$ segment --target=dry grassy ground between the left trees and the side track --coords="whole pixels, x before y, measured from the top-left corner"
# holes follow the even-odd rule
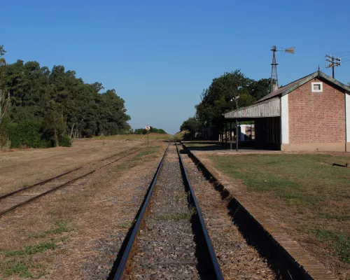
[[[145,144],[146,142],[141,139],[133,141],[76,139],[70,148],[17,149],[12,152],[0,152],[0,195],[89,162],[101,160],[113,153]]]

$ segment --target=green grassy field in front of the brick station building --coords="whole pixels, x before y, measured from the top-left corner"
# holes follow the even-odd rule
[[[214,167],[244,183],[246,195],[274,214],[321,258],[350,269],[349,156],[208,155]],[[324,260],[324,262],[328,262]],[[350,277],[350,275],[349,275]],[[347,279],[347,278],[345,278]]]

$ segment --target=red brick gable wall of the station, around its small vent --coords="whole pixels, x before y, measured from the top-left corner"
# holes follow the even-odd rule
[[[311,92],[322,82],[323,92]],[[344,92],[313,79],[288,94],[289,143],[345,142]]]

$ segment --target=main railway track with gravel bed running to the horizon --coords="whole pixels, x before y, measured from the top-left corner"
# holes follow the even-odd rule
[[[176,143],[163,155],[114,279],[223,279]]]

